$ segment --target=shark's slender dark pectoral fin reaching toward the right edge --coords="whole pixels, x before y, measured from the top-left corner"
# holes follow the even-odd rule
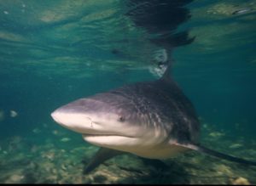
[[[256,166],[256,161],[247,161],[238,157],[234,157],[231,155],[225,155],[224,153],[212,150],[212,149],[208,149],[206,147],[203,147],[201,145],[195,145],[195,144],[178,144],[179,146],[183,146],[185,148],[188,149],[194,149],[196,151],[199,151],[201,153],[207,154],[207,155],[212,155],[227,161],[233,161],[236,163],[241,163],[244,165],[248,165],[248,166]]]

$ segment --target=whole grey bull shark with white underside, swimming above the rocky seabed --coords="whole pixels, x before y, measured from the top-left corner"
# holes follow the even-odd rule
[[[173,80],[170,64],[158,80],[78,99],[51,114],[62,127],[79,132],[85,141],[101,147],[84,172],[124,153],[164,160],[191,149],[256,166],[256,162],[200,144],[200,121],[193,104]]]

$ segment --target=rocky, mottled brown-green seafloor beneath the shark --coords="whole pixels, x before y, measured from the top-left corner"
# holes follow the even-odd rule
[[[51,126],[51,125],[50,125]],[[230,138],[203,124],[202,144],[255,161],[256,141]],[[98,148],[79,134],[44,124],[26,137],[0,142],[0,183],[192,183],[256,184],[256,167],[219,160],[198,152],[165,161],[165,169],[135,155],[119,155],[84,175],[84,165]]]

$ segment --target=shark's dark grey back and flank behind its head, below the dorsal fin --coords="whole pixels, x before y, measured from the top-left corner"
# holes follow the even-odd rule
[[[108,104],[120,104],[120,109],[125,107],[129,113],[134,113],[131,116],[135,117],[134,120],[141,117],[147,120],[143,122],[161,125],[168,132],[169,139],[178,143],[198,143],[200,123],[195,109],[171,79],[125,85],[110,90],[108,100],[104,94],[104,98],[101,93],[94,98],[99,100],[102,97],[102,101],[109,101]]]

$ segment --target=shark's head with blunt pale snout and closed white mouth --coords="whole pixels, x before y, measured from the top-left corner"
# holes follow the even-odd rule
[[[116,93],[99,93],[66,104],[51,116],[61,126],[83,134],[91,144],[132,151],[166,138],[166,132],[141,110],[132,99]]]

